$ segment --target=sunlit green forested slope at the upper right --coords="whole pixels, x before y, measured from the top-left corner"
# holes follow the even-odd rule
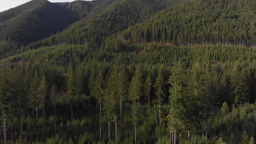
[[[253,0],[190,0],[118,34],[125,43],[232,44],[255,47]]]

